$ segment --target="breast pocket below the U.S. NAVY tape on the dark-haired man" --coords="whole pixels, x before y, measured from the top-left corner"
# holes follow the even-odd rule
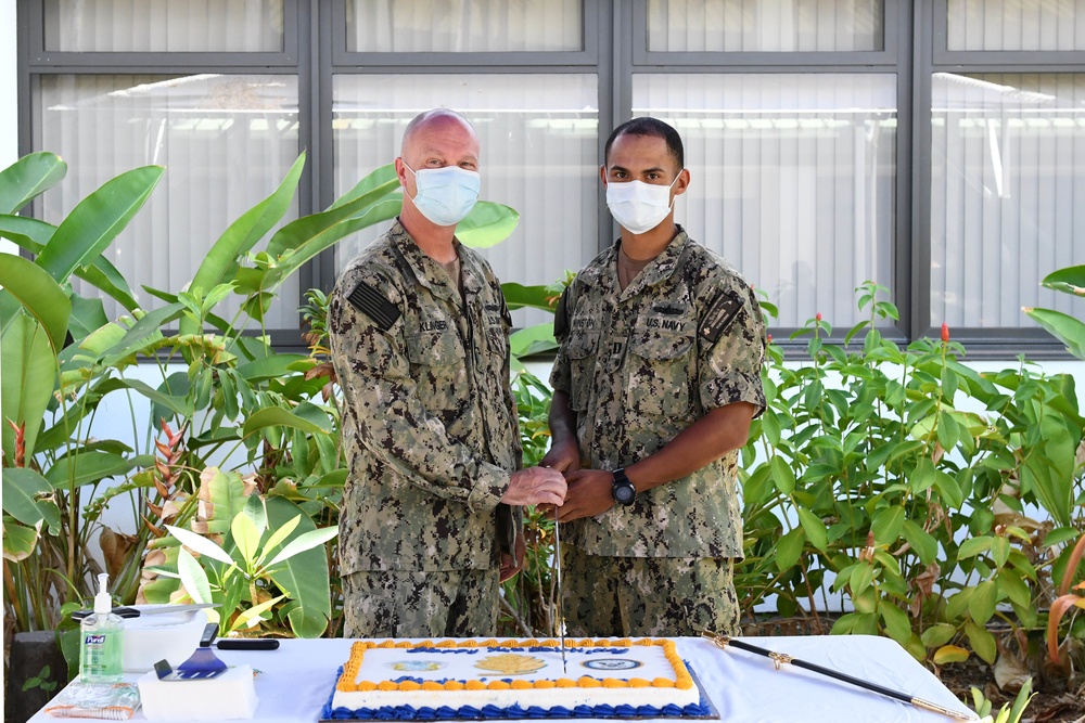
[[[651,417],[691,417],[692,353],[692,335],[635,332],[626,357],[628,409]]]

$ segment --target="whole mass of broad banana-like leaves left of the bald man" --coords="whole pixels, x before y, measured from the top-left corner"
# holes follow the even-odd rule
[[[166,525],[196,521],[207,468],[251,470],[261,494],[289,500],[308,516],[298,529],[306,521],[334,526],[345,479],[334,399],[321,398],[318,359],[270,346],[264,314],[291,274],[342,238],[395,216],[401,196],[391,166],[383,167],[327,210],[284,221],[304,164],[302,154],[271,195],[227,228],[183,292],[144,287],[163,302],[154,309],[137,302],[103,251],[146,202],[163,168],[122,173],[55,225],[17,214],[63,179],[59,157],[31,154],[0,171],[0,237],[27,257],[5,254],[0,262],[4,607],[17,630],[55,627],[61,606],[90,591],[100,571],[89,552],[95,533],[114,594],[133,602],[149,543],[167,537]],[[459,232],[488,245],[506,237],[518,218],[510,208],[481,203]],[[73,276],[97,295],[76,294]],[[219,305],[235,294],[244,297],[243,313],[226,321]],[[127,314],[107,319],[102,297]],[[258,336],[246,333],[253,323]],[[148,361],[155,364],[161,380],[136,378],[131,367],[139,360],[141,371]],[[111,395],[150,401],[144,428],[132,412],[133,440],[91,437]],[[133,508],[133,533],[101,522],[114,500]],[[297,601],[279,607],[292,625],[315,629],[307,611],[293,611]],[[305,634],[298,627],[294,632]]]

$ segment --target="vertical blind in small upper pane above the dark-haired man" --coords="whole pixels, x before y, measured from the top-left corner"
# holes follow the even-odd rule
[[[649,0],[648,49],[854,52],[884,46],[884,0]]]

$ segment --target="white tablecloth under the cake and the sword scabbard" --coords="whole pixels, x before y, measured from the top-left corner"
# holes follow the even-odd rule
[[[968,708],[932,673],[889,638],[850,635],[745,640],[968,712]],[[693,668],[720,720],[727,723],[946,723],[952,720],[793,666],[783,666],[777,671],[768,658],[736,648],[720,650],[709,641],[695,637],[677,638],[677,643],[678,651]],[[318,720],[349,647],[350,641],[346,640],[290,640],[282,641],[280,648],[273,651],[217,650],[216,655],[227,664],[247,662],[260,671],[256,677],[256,695],[260,699],[257,721],[310,723]],[[130,677],[135,681],[138,675]],[[62,720],[65,719],[42,712],[30,719],[31,723]],[[132,720],[143,720],[142,712],[137,712]]]

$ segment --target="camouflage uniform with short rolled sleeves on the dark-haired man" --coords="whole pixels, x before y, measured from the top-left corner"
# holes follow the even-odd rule
[[[618,242],[621,244],[621,241]],[[576,414],[580,464],[612,470],[659,451],[707,411],[765,408],[765,323],[750,286],[678,235],[623,292],[618,244],[559,305],[550,383]],[[738,452],[563,525],[564,609],[578,635],[736,632],[742,557]]]

